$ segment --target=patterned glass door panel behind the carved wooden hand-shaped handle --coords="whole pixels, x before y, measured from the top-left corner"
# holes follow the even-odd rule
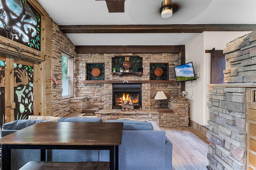
[[[14,63],[14,119],[33,115],[33,67]]]

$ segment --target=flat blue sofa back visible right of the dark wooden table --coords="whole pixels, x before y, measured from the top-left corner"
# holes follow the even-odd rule
[[[165,131],[124,130],[119,146],[120,169],[163,170]]]

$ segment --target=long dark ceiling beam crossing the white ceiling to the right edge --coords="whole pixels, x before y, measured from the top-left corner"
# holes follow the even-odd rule
[[[68,25],[64,33],[202,33],[204,31],[255,31],[256,24],[173,24],[173,25]]]

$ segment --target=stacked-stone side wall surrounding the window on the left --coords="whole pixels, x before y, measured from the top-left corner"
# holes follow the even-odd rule
[[[61,56],[62,52],[70,55],[71,57],[76,57],[75,46],[65,36],[58,25],[52,22],[52,76],[58,75],[59,85],[56,87],[48,88],[52,90],[52,116],[64,117],[70,111],[70,99],[62,99],[62,62]],[[74,58],[76,63],[76,59]],[[75,68],[74,68],[75,69]],[[50,71],[50,70],[49,70]],[[75,77],[75,76],[74,76]]]

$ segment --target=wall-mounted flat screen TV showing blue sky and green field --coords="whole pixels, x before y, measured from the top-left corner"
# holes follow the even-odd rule
[[[192,62],[176,66],[174,67],[174,70],[176,81],[188,81],[196,79]]]

